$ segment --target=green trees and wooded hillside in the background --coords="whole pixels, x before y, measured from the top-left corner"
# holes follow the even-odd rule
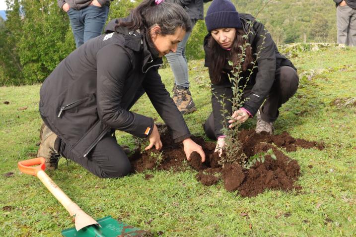
[[[124,17],[140,0],[114,0],[108,20]],[[232,0],[239,12],[256,15],[266,0]],[[0,86],[41,83],[75,49],[67,14],[54,0],[6,0],[7,20],[0,18]],[[205,11],[211,2],[205,4]],[[336,42],[332,0],[272,0],[259,13],[277,45]],[[204,20],[187,45],[189,59],[204,58]]]

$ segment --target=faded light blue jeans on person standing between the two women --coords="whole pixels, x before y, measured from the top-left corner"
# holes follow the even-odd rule
[[[192,29],[197,23],[197,20],[191,20]],[[184,39],[179,42],[177,51],[175,53],[171,52],[166,55],[167,61],[173,71],[174,82],[180,88],[189,87],[189,75],[188,75],[188,62],[185,57],[185,46],[192,32],[187,32]]]

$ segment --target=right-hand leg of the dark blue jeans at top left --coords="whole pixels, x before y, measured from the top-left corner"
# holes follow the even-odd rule
[[[89,5],[83,9],[84,12],[84,43],[92,38],[101,35],[106,19],[108,18],[109,7]]]

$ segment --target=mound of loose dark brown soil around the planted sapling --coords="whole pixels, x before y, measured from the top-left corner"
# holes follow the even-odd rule
[[[295,160],[289,159],[278,147],[286,151],[296,151],[297,147],[324,149],[322,143],[294,139],[287,132],[280,135],[257,134],[254,130],[242,130],[239,135],[243,152],[247,157],[272,149],[276,160],[270,155],[265,156],[263,163],[256,162],[250,169],[244,169],[238,163],[219,165],[217,153],[214,153],[215,143],[204,141],[201,137],[192,139],[203,147],[206,161],[201,163],[200,155],[191,154],[190,161],[185,162],[186,157],[183,146],[173,142],[168,129],[159,125],[162,151],[145,151],[142,154],[137,151],[129,157],[133,170],[143,172],[145,170],[173,170],[182,171],[193,168],[198,171],[197,180],[204,185],[215,184],[219,179],[223,180],[224,187],[228,191],[238,190],[241,196],[255,196],[265,189],[301,189],[294,185],[300,176],[300,167]],[[141,150],[141,149],[139,149]],[[224,154],[222,154],[223,156]]]

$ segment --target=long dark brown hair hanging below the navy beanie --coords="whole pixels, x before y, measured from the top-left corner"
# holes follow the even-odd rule
[[[242,29],[236,29],[236,36],[231,45],[231,50],[227,51],[221,48],[221,46],[214,40],[213,36],[210,37],[209,45],[212,48],[212,52],[210,54],[210,61],[212,62],[212,75],[211,78],[212,83],[219,84],[221,82],[221,73],[223,73],[223,67],[226,64],[227,60],[231,60],[233,62],[233,70],[235,67],[240,64],[240,56],[241,47],[246,43],[246,39],[242,38],[245,35],[245,31]],[[251,46],[245,47],[246,57],[244,58],[241,69],[242,71],[246,71],[248,68],[252,67],[252,48]]]

